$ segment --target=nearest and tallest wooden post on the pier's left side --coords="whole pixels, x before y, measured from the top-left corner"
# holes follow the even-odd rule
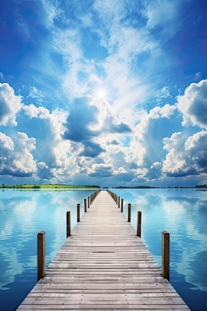
[[[37,281],[45,276],[45,231],[37,234]]]

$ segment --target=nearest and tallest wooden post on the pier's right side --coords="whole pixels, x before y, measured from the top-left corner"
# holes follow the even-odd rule
[[[170,280],[170,234],[162,232],[162,276]]]

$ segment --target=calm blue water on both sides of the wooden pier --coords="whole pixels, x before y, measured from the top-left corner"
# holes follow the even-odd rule
[[[170,282],[191,310],[207,311],[207,192],[115,190],[142,212],[141,238],[161,265],[161,232],[170,233]],[[0,190],[0,310],[15,310],[37,282],[37,233],[46,231],[46,264],[66,239],[66,212],[76,223],[92,191]]]

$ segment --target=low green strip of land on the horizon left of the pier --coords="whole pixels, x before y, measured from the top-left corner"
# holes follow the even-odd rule
[[[18,184],[18,185],[5,185],[1,184],[0,188],[5,189],[50,189],[50,188],[58,188],[58,189],[82,189],[82,188],[100,188],[98,185],[66,185],[66,184]]]

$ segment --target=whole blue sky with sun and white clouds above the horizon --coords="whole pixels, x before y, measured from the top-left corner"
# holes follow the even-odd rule
[[[1,183],[207,183],[206,0],[1,0]]]

